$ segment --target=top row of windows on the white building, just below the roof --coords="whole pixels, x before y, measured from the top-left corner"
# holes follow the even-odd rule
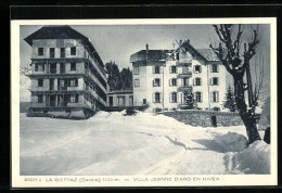
[[[153,66],[152,67],[153,69],[153,74],[161,74],[162,73],[162,68],[161,66]],[[200,74],[202,73],[202,66],[201,65],[194,65],[194,70],[193,70],[195,74]],[[213,64],[211,67],[210,67],[210,72],[211,73],[218,73],[218,65],[217,64]],[[176,74],[177,73],[177,66],[169,66],[169,73],[170,74]],[[134,75],[139,75],[139,66],[134,66],[133,67],[133,74]]]

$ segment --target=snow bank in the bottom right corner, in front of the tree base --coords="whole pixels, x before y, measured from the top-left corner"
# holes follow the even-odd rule
[[[228,153],[225,162],[231,173],[270,173],[270,145],[255,141],[243,152]]]

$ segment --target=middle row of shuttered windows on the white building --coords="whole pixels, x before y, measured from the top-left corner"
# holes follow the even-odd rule
[[[161,78],[155,78],[153,80],[153,87],[161,87]],[[181,86],[188,86],[188,78],[182,78],[182,83]],[[210,78],[210,86],[218,86],[219,81],[218,81],[218,77],[213,77]],[[169,79],[169,86],[174,87],[177,86],[177,78],[170,78]],[[194,78],[193,79],[193,86],[202,86],[202,78]],[[140,80],[139,79],[134,79],[134,87],[140,87]]]

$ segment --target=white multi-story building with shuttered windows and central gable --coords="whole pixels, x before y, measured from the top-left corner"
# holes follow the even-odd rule
[[[195,49],[190,41],[176,50],[141,50],[130,56],[133,103],[152,111],[185,106],[193,94],[200,110],[225,111],[222,103],[232,78],[211,49]]]

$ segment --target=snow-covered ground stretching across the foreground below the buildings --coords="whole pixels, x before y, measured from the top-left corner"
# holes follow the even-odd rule
[[[243,126],[201,128],[164,115],[99,112],[87,120],[21,114],[21,175],[269,173],[270,146]],[[260,131],[261,138],[264,131]]]

